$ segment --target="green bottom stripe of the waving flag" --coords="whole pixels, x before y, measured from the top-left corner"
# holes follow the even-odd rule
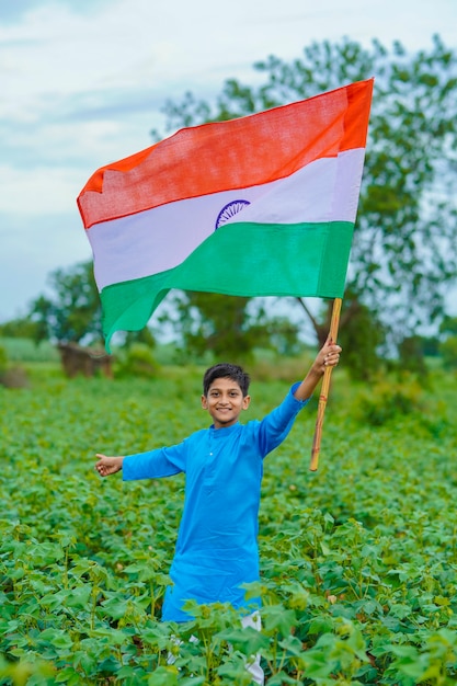
[[[341,298],[353,229],[350,221],[222,226],[173,270],[103,288],[106,345],[115,331],[142,329],[170,288]]]

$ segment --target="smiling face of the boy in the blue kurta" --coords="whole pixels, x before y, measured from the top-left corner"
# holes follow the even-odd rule
[[[238,422],[241,410],[247,410],[251,398],[243,396],[237,381],[218,378],[209,386],[208,395],[202,396],[202,408],[208,410],[214,427],[222,428]]]

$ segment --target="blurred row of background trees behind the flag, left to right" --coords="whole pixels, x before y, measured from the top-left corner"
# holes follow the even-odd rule
[[[398,42],[388,49],[377,41],[363,47],[345,38],[313,43],[292,61],[270,56],[254,68],[262,75],[255,87],[229,79],[210,102],[190,92],[181,102],[168,101],[167,133],[244,116],[375,77],[339,340],[346,364],[363,378],[386,355],[398,354],[403,363],[416,359],[424,347],[418,335],[422,327],[433,325],[453,338],[446,294],[457,276],[457,53],[438,36],[431,48],[416,53],[408,53]],[[157,132],[152,135],[158,137]],[[91,265],[58,270],[50,283],[54,298],[39,296],[25,318],[35,334],[100,339],[100,300]],[[170,294],[169,325],[184,347],[213,350],[217,356],[249,355],[259,345],[293,352],[298,325],[269,316],[263,302],[255,307],[252,300]],[[331,304],[322,301],[316,313],[305,299],[289,300],[322,343]]]

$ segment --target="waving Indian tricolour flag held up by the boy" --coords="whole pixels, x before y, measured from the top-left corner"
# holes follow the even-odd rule
[[[342,297],[373,79],[179,130],[78,197],[108,347],[171,288]]]

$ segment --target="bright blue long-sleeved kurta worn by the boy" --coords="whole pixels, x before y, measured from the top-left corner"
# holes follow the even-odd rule
[[[185,500],[162,618],[188,621],[186,599],[258,605],[240,585],[259,580],[259,505],[263,458],[287,436],[308,401],[293,386],[262,421],[197,431],[182,443],[124,458],[123,479],[185,472]]]

